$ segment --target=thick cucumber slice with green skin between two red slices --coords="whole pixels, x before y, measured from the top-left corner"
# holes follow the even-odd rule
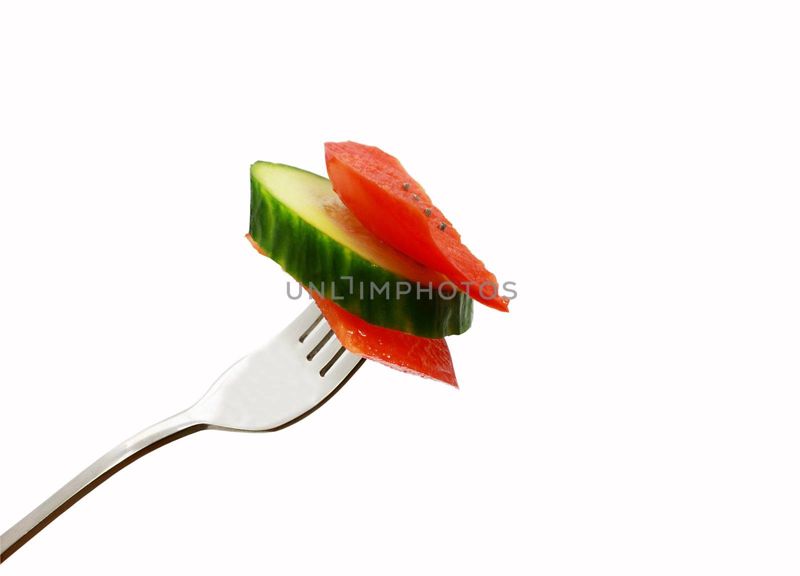
[[[462,334],[472,324],[472,298],[460,290],[446,292],[450,286],[439,294],[436,287],[447,278],[378,240],[327,178],[256,162],[250,166],[250,192],[250,236],[258,246],[298,282],[313,284],[351,314],[426,338]],[[352,293],[346,277],[353,278]],[[389,289],[378,294],[386,282]],[[409,282],[410,293],[399,294],[406,286],[398,290],[398,282]],[[417,282],[423,290],[434,286],[430,299],[425,291],[418,298]]]

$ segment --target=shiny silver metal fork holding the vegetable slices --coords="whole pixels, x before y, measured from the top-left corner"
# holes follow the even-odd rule
[[[305,418],[364,363],[311,304],[270,342],[222,373],[190,408],[128,438],[0,537],[0,562],[59,514],[144,454],[198,430],[274,432]]]

